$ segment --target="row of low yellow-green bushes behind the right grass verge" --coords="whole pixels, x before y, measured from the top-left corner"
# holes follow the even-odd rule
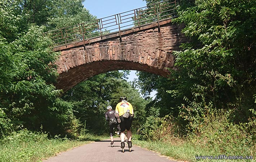
[[[236,124],[230,121],[230,114],[232,114],[231,111],[221,110],[207,115],[202,127],[198,129],[200,131],[190,132],[186,136],[180,135],[178,123],[173,122],[172,117],[150,116],[141,127],[136,139],[165,143],[181,150],[189,144],[194,155],[204,153],[213,156],[220,154],[256,156],[256,119],[250,118],[247,123]],[[191,152],[187,156],[193,157]]]

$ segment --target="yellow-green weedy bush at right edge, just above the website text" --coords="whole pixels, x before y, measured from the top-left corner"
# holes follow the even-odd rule
[[[256,147],[256,120],[235,124],[228,120],[229,114],[222,111],[215,113],[214,116],[208,116],[201,129],[203,131],[199,135],[190,135],[189,140],[214,149],[218,153],[248,156],[248,150]],[[253,154],[256,153],[251,151]]]

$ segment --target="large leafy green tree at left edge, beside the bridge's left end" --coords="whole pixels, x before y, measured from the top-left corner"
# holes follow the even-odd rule
[[[51,63],[57,54],[49,48],[51,41],[41,35],[44,27],[30,22],[30,15],[23,12],[22,2],[0,1],[1,76],[4,76],[0,94],[1,135],[18,127],[40,130],[47,120],[53,123],[53,130],[61,131],[65,124],[57,118],[62,118],[60,114],[67,113],[70,107],[58,99],[61,91],[52,85],[57,73]],[[56,110],[59,112],[53,113]],[[44,113],[49,118],[45,119]],[[49,127],[44,129],[50,131]]]

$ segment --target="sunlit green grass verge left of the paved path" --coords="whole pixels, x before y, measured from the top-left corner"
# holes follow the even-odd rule
[[[35,133],[28,130],[13,132],[0,141],[0,162],[41,162],[56,153],[78,147],[98,137],[83,136],[84,140],[48,139],[47,134]]]

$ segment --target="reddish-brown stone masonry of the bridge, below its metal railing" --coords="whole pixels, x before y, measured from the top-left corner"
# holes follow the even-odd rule
[[[54,48],[61,51],[57,60],[57,89],[69,90],[89,77],[113,70],[145,71],[167,77],[175,62],[172,51],[180,50],[188,39],[181,34],[184,25],[171,20],[110,33],[85,42]],[[160,29],[160,30],[159,30]]]

